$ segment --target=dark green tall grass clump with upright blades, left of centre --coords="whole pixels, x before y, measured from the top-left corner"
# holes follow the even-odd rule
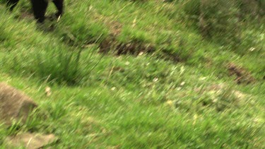
[[[35,56],[35,75],[42,81],[66,85],[83,83],[102,59],[95,56],[95,49],[63,48],[46,49]]]

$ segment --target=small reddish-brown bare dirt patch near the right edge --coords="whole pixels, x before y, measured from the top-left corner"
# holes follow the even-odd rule
[[[229,76],[236,76],[235,81],[237,82],[237,84],[249,84],[255,82],[255,78],[247,70],[245,70],[245,68],[236,66],[232,63],[228,64],[227,68]]]

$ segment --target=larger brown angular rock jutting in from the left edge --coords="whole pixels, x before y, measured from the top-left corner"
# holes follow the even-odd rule
[[[30,97],[6,83],[0,83],[0,123],[11,125],[14,119],[23,124],[35,107],[37,104]]]

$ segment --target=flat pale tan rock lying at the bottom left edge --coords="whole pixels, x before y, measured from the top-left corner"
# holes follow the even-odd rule
[[[4,141],[4,145],[8,148],[43,148],[51,143],[58,141],[54,134],[42,135],[37,133],[21,133],[16,136],[9,136]]]

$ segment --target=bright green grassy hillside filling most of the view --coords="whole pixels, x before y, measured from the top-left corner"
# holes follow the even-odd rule
[[[28,1],[1,3],[0,81],[40,112],[0,126],[0,146],[31,131],[59,136],[52,148],[265,148],[264,16],[204,13],[200,30],[192,2],[65,5],[36,25]]]

